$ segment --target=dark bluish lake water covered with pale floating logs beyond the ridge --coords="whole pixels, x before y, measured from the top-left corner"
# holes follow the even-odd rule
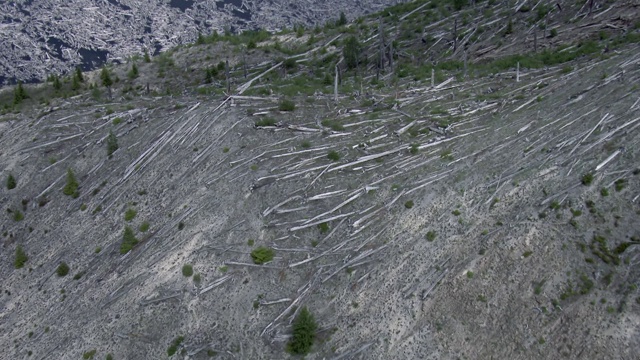
[[[0,85],[44,80],[158,53],[214,30],[279,30],[354,18],[395,3],[366,1],[73,0],[0,2]]]

